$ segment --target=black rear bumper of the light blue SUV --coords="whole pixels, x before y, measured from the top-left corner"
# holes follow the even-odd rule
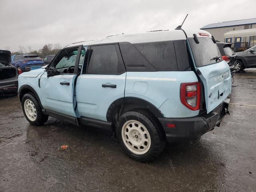
[[[169,142],[178,138],[196,138],[219,126],[228,113],[229,98],[209,114],[191,118],[158,118],[164,128],[166,139]],[[175,128],[168,128],[166,124],[175,124]]]

